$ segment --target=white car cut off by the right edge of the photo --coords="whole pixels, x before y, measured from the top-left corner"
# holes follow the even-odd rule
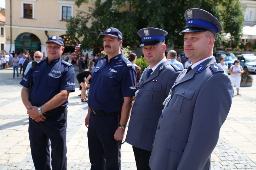
[[[240,60],[240,65],[245,72],[256,72],[256,55],[255,54],[241,54],[237,55]]]

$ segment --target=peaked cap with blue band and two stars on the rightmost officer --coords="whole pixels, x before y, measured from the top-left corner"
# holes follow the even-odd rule
[[[215,34],[222,31],[221,23],[212,14],[199,8],[188,9],[184,17],[186,26],[180,32],[180,35],[186,32],[203,32],[211,31]]]

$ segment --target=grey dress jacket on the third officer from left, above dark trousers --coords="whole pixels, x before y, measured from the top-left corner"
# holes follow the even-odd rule
[[[163,101],[180,73],[170,60],[162,62],[147,79],[145,69],[138,84],[138,94],[133,103],[126,142],[147,151],[152,150],[157,122],[162,113]],[[179,70],[179,71],[178,71]]]

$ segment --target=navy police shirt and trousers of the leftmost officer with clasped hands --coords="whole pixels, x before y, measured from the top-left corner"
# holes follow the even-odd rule
[[[30,79],[31,77],[31,79]],[[48,63],[47,58],[29,70],[20,82],[30,88],[30,100],[33,106],[42,106],[61,90],[75,91],[75,72],[68,62],[58,58]],[[50,165],[49,139],[52,148],[52,168],[67,169],[67,105],[68,100],[60,106],[47,111],[45,121],[36,122],[29,117],[29,140],[35,169],[48,170]]]

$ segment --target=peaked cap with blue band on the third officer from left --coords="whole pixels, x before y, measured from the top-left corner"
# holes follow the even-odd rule
[[[137,32],[141,37],[142,46],[154,46],[162,41],[165,42],[165,36],[168,34],[165,30],[159,28],[143,28]]]

